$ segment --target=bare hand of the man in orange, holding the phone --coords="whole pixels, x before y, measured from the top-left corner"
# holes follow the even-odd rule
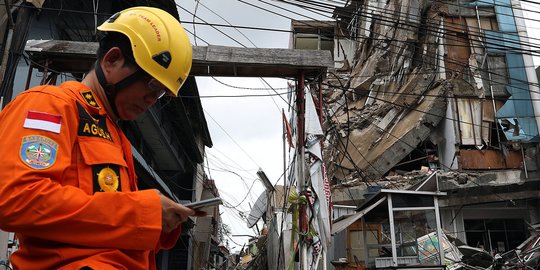
[[[161,230],[163,232],[171,232],[178,228],[182,222],[186,221],[189,216],[198,215],[193,209],[187,208],[181,204],[175,203],[167,196],[156,190],[161,199]]]

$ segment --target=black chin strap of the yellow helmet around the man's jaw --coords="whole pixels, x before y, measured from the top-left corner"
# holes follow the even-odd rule
[[[146,75],[146,72],[144,72],[142,69],[138,69],[133,74],[125,77],[121,81],[110,84],[107,82],[107,79],[105,78],[105,74],[103,73],[103,69],[101,69],[101,65],[99,64],[99,60],[96,61],[95,64],[95,71],[96,71],[96,77],[98,79],[99,84],[101,87],[103,87],[103,90],[105,91],[105,96],[107,97],[107,101],[109,102],[109,106],[111,106],[111,109],[113,110],[113,113],[116,116],[118,115],[118,109],[116,108],[116,95],[118,92],[120,92],[122,89],[128,87],[129,85],[133,84],[134,82],[140,80],[143,76]]]

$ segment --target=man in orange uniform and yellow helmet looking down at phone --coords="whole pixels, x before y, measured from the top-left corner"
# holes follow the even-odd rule
[[[98,27],[98,60],[82,82],[37,86],[0,112],[0,229],[15,232],[15,269],[155,269],[199,215],[157,190],[137,190],[117,120],[176,96],[191,69],[178,20],[151,7]]]

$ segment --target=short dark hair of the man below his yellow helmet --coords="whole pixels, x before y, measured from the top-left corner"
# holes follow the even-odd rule
[[[103,37],[99,40],[99,48],[96,53],[98,60],[103,59],[111,48],[118,47],[126,59],[124,66],[137,66],[135,57],[133,57],[131,42],[126,35],[118,32],[101,32],[101,34]]]

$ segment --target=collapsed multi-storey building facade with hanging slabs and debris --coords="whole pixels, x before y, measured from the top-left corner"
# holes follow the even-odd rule
[[[540,92],[519,2],[347,3],[336,22],[292,25],[293,46],[334,56],[321,100],[333,203],[433,176],[447,235],[516,248],[540,222]],[[358,222],[329,260],[354,261]]]

